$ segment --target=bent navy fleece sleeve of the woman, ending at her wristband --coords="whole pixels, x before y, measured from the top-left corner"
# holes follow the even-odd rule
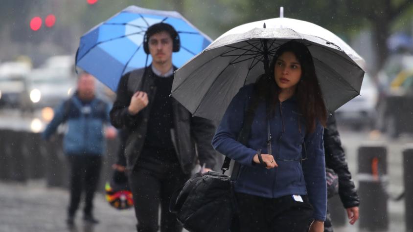
[[[220,153],[242,165],[253,166],[252,158],[257,153],[237,141],[242,129],[246,101],[252,93],[252,86],[243,87],[234,96],[212,139],[212,146]]]

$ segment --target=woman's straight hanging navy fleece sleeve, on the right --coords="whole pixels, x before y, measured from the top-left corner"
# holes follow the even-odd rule
[[[308,198],[314,208],[313,218],[324,221],[327,213],[327,184],[322,135],[323,127],[318,123],[316,130],[305,137],[307,160],[303,161],[302,169]]]

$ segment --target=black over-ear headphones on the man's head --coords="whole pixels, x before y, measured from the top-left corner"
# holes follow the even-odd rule
[[[145,32],[145,35],[143,36],[143,51],[145,51],[146,54],[149,54],[149,37],[153,36],[156,33],[166,31],[169,33],[169,35],[172,38],[172,51],[173,52],[178,52],[179,49],[181,48],[181,40],[179,39],[179,34],[175,30],[173,26],[171,26],[168,23],[160,22],[151,25],[148,27],[148,29]]]

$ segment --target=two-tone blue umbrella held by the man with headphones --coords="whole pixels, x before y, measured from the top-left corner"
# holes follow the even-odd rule
[[[152,59],[143,50],[146,29],[155,23],[171,24],[179,33],[181,49],[172,55],[180,67],[209,45],[211,39],[176,11],[129,6],[93,27],[80,38],[76,65],[116,91],[120,77],[146,66]]]

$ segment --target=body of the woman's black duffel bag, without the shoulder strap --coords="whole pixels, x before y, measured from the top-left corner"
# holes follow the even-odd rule
[[[215,171],[197,173],[171,197],[169,210],[189,232],[229,232],[235,207],[231,180]]]

